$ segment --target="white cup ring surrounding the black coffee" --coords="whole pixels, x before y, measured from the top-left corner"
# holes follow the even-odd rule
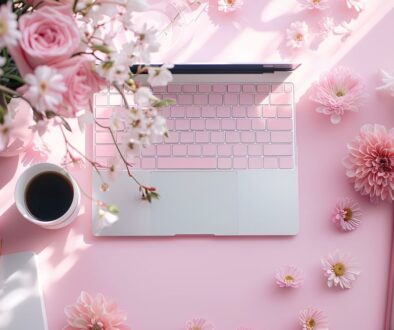
[[[71,202],[71,205],[69,206],[67,211],[62,216],[60,216],[57,219],[50,220],[50,221],[40,221],[29,212],[27,206],[25,204],[23,204],[23,202],[21,201],[22,199],[24,199],[24,196],[22,196],[22,197],[19,196],[21,193],[21,190],[22,190],[21,185],[22,185],[23,179],[26,178],[26,183],[25,183],[25,186],[23,187],[23,191],[24,191],[24,189],[27,186],[27,183],[30,182],[38,174],[44,173],[44,172],[51,172],[51,171],[60,173],[70,180],[72,187],[73,187],[74,196],[73,196],[73,200]],[[32,172],[34,172],[35,174],[31,174]],[[74,213],[75,213],[75,210],[78,209],[78,206],[80,204],[80,199],[81,199],[81,194],[79,191],[79,187],[78,187],[77,183],[75,182],[74,178],[72,177],[72,175],[70,173],[68,173],[65,169],[63,169],[62,167],[60,167],[56,164],[52,164],[52,163],[38,163],[38,164],[34,164],[34,165],[30,166],[29,168],[25,169],[25,171],[18,178],[16,186],[15,186],[15,190],[14,190],[15,205],[16,205],[19,213],[29,222],[39,225],[41,227],[47,227],[47,228],[50,228],[52,226],[58,226],[59,224],[68,221],[70,219],[70,217],[75,216]]]

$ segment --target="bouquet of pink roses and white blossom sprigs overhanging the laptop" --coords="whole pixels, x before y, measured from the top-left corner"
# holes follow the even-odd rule
[[[86,162],[98,173],[114,173],[122,165],[143,199],[158,198],[154,188],[133,176],[130,157],[167,133],[159,110],[173,102],[158,99],[151,89],[166,85],[172,76],[168,65],[148,66],[151,53],[159,48],[157,31],[134,20],[136,12],[147,8],[144,0],[0,1],[0,151],[7,148],[13,130],[10,104],[23,99],[33,113],[30,129],[39,136],[49,127],[61,130],[64,164]],[[116,45],[120,35],[121,46]],[[146,86],[138,81],[141,73],[147,73]],[[95,122],[110,133],[117,150],[114,161],[100,164],[75,148],[67,131],[72,130],[72,118],[80,127],[94,123],[93,94],[109,86],[123,102],[113,110],[108,126]],[[114,131],[119,129],[124,134],[117,143]],[[102,189],[107,187],[103,178]],[[99,205],[116,212],[113,206]]]

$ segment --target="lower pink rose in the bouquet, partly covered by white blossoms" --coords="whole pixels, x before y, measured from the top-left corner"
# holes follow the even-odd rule
[[[67,86],[59,114],[75,116],[78,110],[89,107],[94,93],[106,86],[105,80],[94,71],[94,64],[94,60],[86,56],[74,56],[53,65],[63,75]]]

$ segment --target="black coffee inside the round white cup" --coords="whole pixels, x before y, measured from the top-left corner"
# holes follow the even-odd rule
[[[67,212],[73,197],[73,186],[67,177],[57,172],[45,172],[35,176],[27,185],[25,203],[37,220],[52,221]]]

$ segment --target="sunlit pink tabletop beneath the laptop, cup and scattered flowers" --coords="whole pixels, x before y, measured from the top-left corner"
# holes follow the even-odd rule
[[[137,330],[183,329],[186,320],[205,317],[217,329],[247,325],[257,329],[298,329],[298,312],[323,309],[330,329],[383,329],[392,208],[373,205],[353,192],[341,160],[346,143],[364,123],[393,127],[394,99],[375,91],[379,69],[394,70],[394,2],[375,0],[360,16],[349,14],[345,1],[332,1],[336,12],[351,22],[346,41],[330,37],[319,48],[299,54],[303,67],[294,75],[300,172],[301,231],[279,238],[94,238],[90,202],[70,227],[47,231],[25,222],[16,211],[13,190],[29,157],[0,159],[0,236],[4,253],[32,250],[38,254],[49,328],[65,324],[63,308],[81,290],[114,298]],[[171,62],[269,62],[283,60],[284,31],[290,22],[317,22],[321,16],[301,12],[295,0],[247,1],[241,11],[223,15],[203,12],[196,23],[158,59]],[[175,38],[174,38],[175,40]],[[360,113],[347,114],[338,126],[315,113],[308,88],[319,74],[346,65],[366,82],[368,99]],[[51,135],[52,145],[60,145]],[[84,137],[76,137],[84,145]],[[90,138],[86,148],[90,150]],[[62,150],[57,147],[59,154]],[[51,160],[56,161],[55,153]],[[87,191],[89,169],[73,171]],[[339,197],[360,202],[364,217],[355,232],[338,232],[330,213]],[[283,207],[283,205],[278,205]],[[320,257],[335,249],[351,252],[362,274],[348,291],[328,289]],[[298,290],[276,288],[273,274],[283,264],[306,274]]]

